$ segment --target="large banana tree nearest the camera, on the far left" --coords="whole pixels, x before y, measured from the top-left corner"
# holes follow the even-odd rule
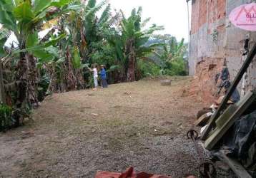
[[[69,6],[72,0],[1,0],[0,23],[13,32],[18,40],[19,61],[16,66],[16,80],[19,89],[16,96],[16,120],[36,101],[36,58],[51,58],[45,48],[33,48],[39,41],[38,29],[46,20],[77,9]],[[30,50],[27,50],[30,48]]]

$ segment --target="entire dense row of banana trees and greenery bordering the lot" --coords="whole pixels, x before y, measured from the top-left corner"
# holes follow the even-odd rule
[[[141,7],[126,17],[106,1],[1,0],[0,131],[46,95],[92,87],[93,63],[106,66],[109,83],[186,75],[184,40],[156,36],[163,26],[149,20]]]

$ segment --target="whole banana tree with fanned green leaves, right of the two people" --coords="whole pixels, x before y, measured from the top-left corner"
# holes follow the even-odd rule
[[[133,9],[128,19],[123,15],[119,26],[120,32],[114,32],[108,39],[115,48],[117,58],[124,66],[124,75],[128,82],[136,80],[137,61],[149,58],[149,54],[157,46],[162,45],[162,43],[147,45],[154,31],[163,29],[162,26],[156,26],[155,24],[144,29],[148,21],[149,19],[142,21],[141,7],[138,10]]]

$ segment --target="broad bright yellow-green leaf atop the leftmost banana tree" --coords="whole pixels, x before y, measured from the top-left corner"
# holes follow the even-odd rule
[[[31,11],[31,4],[29,4],[28,1],[25,1],[24,3],[14,8],[14,16],[16,19],[26,23],[34,19],[34,14]]]

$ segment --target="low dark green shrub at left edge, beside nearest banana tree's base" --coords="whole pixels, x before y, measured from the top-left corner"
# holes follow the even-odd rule
[[[14,124],[12,109],[8,105],[0,103],[0,132],[9,129]]]

